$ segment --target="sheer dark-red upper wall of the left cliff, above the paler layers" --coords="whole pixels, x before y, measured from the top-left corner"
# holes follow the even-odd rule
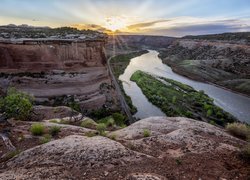
[[[101,67],[106,63],[104,45],[104,41],[0,44],[0,71],[75,71]]]

